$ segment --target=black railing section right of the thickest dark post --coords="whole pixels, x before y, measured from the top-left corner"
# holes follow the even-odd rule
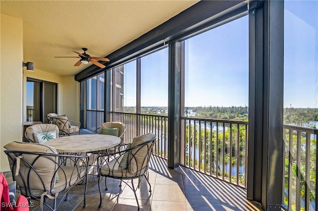
[[[284,125],[285,191],[283,205],[293,211],[317,211],[318,129]]]

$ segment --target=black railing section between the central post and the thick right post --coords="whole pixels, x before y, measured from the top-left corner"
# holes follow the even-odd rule
[[[183,117],[183,164],[246,187],[247,121]]]

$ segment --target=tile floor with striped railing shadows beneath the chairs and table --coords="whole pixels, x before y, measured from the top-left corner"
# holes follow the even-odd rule
[[[246,191],[218,179],[185,167],[167,168],[164,159],[153,156],[149,165],[149,185],[144,179],[137,191],[141,211],[259,211],[259,205],[246,200]],[[9,177],[9,175],[7,175]],[[9,178],[10,179],[10,178]],[[12,179],[12,178],[11,178]],[[107,178],[108,190],[102,180],[102,208],[99,208],[97,181],[88,177],[87,208],[83,208],[84,186],[77,185],[69,192],[69,201],[60,194],[58,211],[137,211],[133,191],[126,185],[119,187],[119,180]],[[137,182],[137,180],[136,180]],[[61,200],[62,199],[62,200]],[[117,201],[118,200],[118,201]],[[52,200],[49,200],[52,202]],[[40,211],[34,202],[30,210]],[[48,210],[45,206],[43,210]]]

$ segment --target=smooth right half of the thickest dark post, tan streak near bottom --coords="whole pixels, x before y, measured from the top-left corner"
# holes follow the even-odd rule
[[[280,211],[283,200],[284,1],[268,7],[268,210]],[[278,189],[278,190],[277,190]]]

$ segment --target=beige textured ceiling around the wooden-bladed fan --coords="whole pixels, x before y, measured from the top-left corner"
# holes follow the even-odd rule
[[[192,6],[198,0],[0,0],[1,14],[23,21],[23,61],[72,76],[91,65],[74,64],[87,48],[104,57]],[[14,26],[12,26],[14,27]],[[107,66],[107,63],[106,63]]]

